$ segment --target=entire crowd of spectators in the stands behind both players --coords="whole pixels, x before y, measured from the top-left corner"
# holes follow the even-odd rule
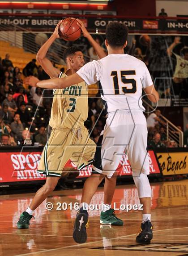
[[[15,146],[18,140],[25,138],[26,132],[34,143],[46,144],[53,94],[51,90],[43,93],[41,88],[25,85],[24,77],[29,75],[40,80],[49,78],[43,68],[36,65],[35,59],[20,72],[18,67],[13,67],[9,54],[2,61],[0,58],[0,145]],[[96,97],[89,97],[89,113],[85,121],[95,143],[106,122],[106,111],[100,91],[97,91]],[[166,124],[160,115],[160,110],[156,110],[147,117],[148,146],[177,147],[174,141],[167,140]]]

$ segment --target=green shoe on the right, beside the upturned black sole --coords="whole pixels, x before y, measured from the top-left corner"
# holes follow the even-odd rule
[[[112,208],[105,212],[101,211],[100,223],[106,224],[106,225],[115,225],[115,226],[124,225],[123,220],[120,220],[115,216],[114,209]]]

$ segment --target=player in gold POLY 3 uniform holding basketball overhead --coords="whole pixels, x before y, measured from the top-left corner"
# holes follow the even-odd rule
[[[77,47],[69,47],[65,50],[64,59],[67,63],[67,72],[63,74],[53,67],[50,60],[46,58],[47,51],[51,44],[59,38],[58,27],[46,43],[39,49],[37,61],[44,71],[52,78],[70,76],[76,73],[84,65],[84,56]],[[90,42],[97,52],[99,58],[105,57],[104,50],[90,36]],[[37,78],[33,77],[36,84]],[[64,171],[66,162],[71,159],[81,170],[93,162],[96,145],[90,139],[89,133],[84,126],[84,121],[88,116],[88,90],[85,82],[54,90],[54,98],[51,108],[51,118],[49,125],[52,127],[51,135],[43,149],[38,172],[47,175],[46,183],[34,196],[33,201],[26,211],[22,212],[17,222],[18,229],[29,228],[30,219],[34,210],[47,198],[55,189],[61,175],[66,175]],[[105,180],[106,198],[111,195],[109,191],[115,186],[116,180]],[[117,218],[117,220],[119,220]]]

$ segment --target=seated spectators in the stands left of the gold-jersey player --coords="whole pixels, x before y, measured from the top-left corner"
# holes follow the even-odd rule
[[[46,92],[47,100],[43,99],[40,88],[30,88],[24,83],[24,77],[29,75],[40,80],[49,78],[43,68],[36,65],[35,59],[20,72],[13,66],[9,54],[3,60],[0,58],[1,146],[16,146],[24,139],[31,139],[38,145],[46,144],[52,91]]]

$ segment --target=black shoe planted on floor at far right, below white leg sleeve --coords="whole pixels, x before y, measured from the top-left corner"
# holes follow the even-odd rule
[[[150,243],[150,240],[153,238],[153,226],[150,220],[145,221],[141,224],[140,233],[137,235],[137,243]]]

